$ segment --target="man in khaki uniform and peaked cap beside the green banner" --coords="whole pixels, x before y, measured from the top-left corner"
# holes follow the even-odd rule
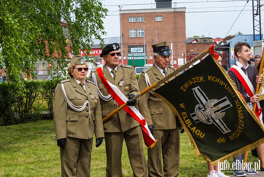
[[[152,45],[155,64],[141,72],[138,87],[145,90],[175,69],[169,65],[170,48],[167,42]],[[145,78],[149,78],[146,80]],[[147,104],[146,104],[147,103]],[[138,101],[139,112],[146,119],[155,139],[155,146],[148,149],[148,174],[157,176],[178,176],[180,162],[180,127],[178,118],[153,92],[144,94]],[[163,156],[163,168],[161,163]],[[164,173],[164,174],[163,174]]]

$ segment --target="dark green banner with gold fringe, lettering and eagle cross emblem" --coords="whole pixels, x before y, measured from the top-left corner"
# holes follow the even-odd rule
[[[195,154],[212,164],[264,141],[263,126],[211,55],[155,94],[180,118]]]

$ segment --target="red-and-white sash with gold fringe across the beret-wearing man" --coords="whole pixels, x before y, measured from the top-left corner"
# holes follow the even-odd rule
[[[114,100],[116,100],[116,102],[119,105],[125,104],[128,101],[128,98],[118,89],[118,87],[116,87],[115,85],[113,85],[111,82],[109,82],[108,80],[104,78],[104,74],[102,73],[102,67],[97,68],[96,70],[97,70],[98,76],[100,77],[102,83],[104,84],[107,91],[114,98]],[[149,147],[152,148],[155,145],[157,140],[155,140],[153,135],[150,133],[148,124],[146,120],[144,119],[144,117],[140,114],[138,109],[136,109],[136,107],[134,106],[126,106],[124,107],[124,110],[129,115],[131,115],[136,121],[140,123],[144,142],[148,148]]]

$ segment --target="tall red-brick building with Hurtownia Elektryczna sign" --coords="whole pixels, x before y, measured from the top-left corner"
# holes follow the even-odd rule
[[[171,65],[178,68],[186,63],[185,8],[172,8],[171,0],[155,1],[156,9],[121,10],[123,64],[153,64],[151,45],[167,41]]]

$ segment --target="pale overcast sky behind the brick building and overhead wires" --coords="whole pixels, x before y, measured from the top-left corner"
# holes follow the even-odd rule
[[[104,19],[107,35],[103,37],[120,36],[119,5],[123,6],[122,10],[156,8],[155,0],[100,1],[103,7],[109,10],[108,16]],[[256,5],[255,3],[256,1],[254,5]],[[264,1],[261,0],[260,4],[262,3]],[[246,0],[177,0],[177,3],[176,0],[172,0],[172,7],[174,6],[186,7],[187,37],[205,35],[205,37],[211,38],[224,38],[238,31],[243,34],[253,34],[252,0],[249,0],[248,3]],[[263,11],[264,6],[261,10],[262,23],[264,23]],[[261,28],[264,30],[264,24],[261,24]]]

